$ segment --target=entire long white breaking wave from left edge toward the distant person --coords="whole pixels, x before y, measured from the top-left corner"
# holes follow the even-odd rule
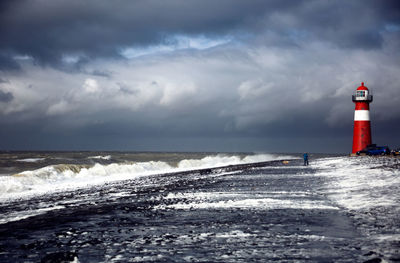
[[[21,198],[169,172],[293,158],[292,156],[273,154],[258,154],[246,157],[215,155],[207,156],[203,159],[181,160],[176,166],[161,161],[112,163],[108,165],[97,163],[94,166],[77,164],[50,165],[33,171],[1,176],[0,199]]]

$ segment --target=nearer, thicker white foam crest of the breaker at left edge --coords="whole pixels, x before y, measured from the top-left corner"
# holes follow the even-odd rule
[[[95,164],[89,168],[74,165],[52,165],[25,171],[18,175],[0,177],[0,194],[1,197],[6,198],[23,197],[24,195],[76,189],[116,180],[134,179],[169,170],[172,170],[172,167],[164,162]]]

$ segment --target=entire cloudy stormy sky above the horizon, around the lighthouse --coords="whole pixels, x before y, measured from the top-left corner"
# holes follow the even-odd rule
[[[400,146],[400,2],[0,2],[0,150]]]

